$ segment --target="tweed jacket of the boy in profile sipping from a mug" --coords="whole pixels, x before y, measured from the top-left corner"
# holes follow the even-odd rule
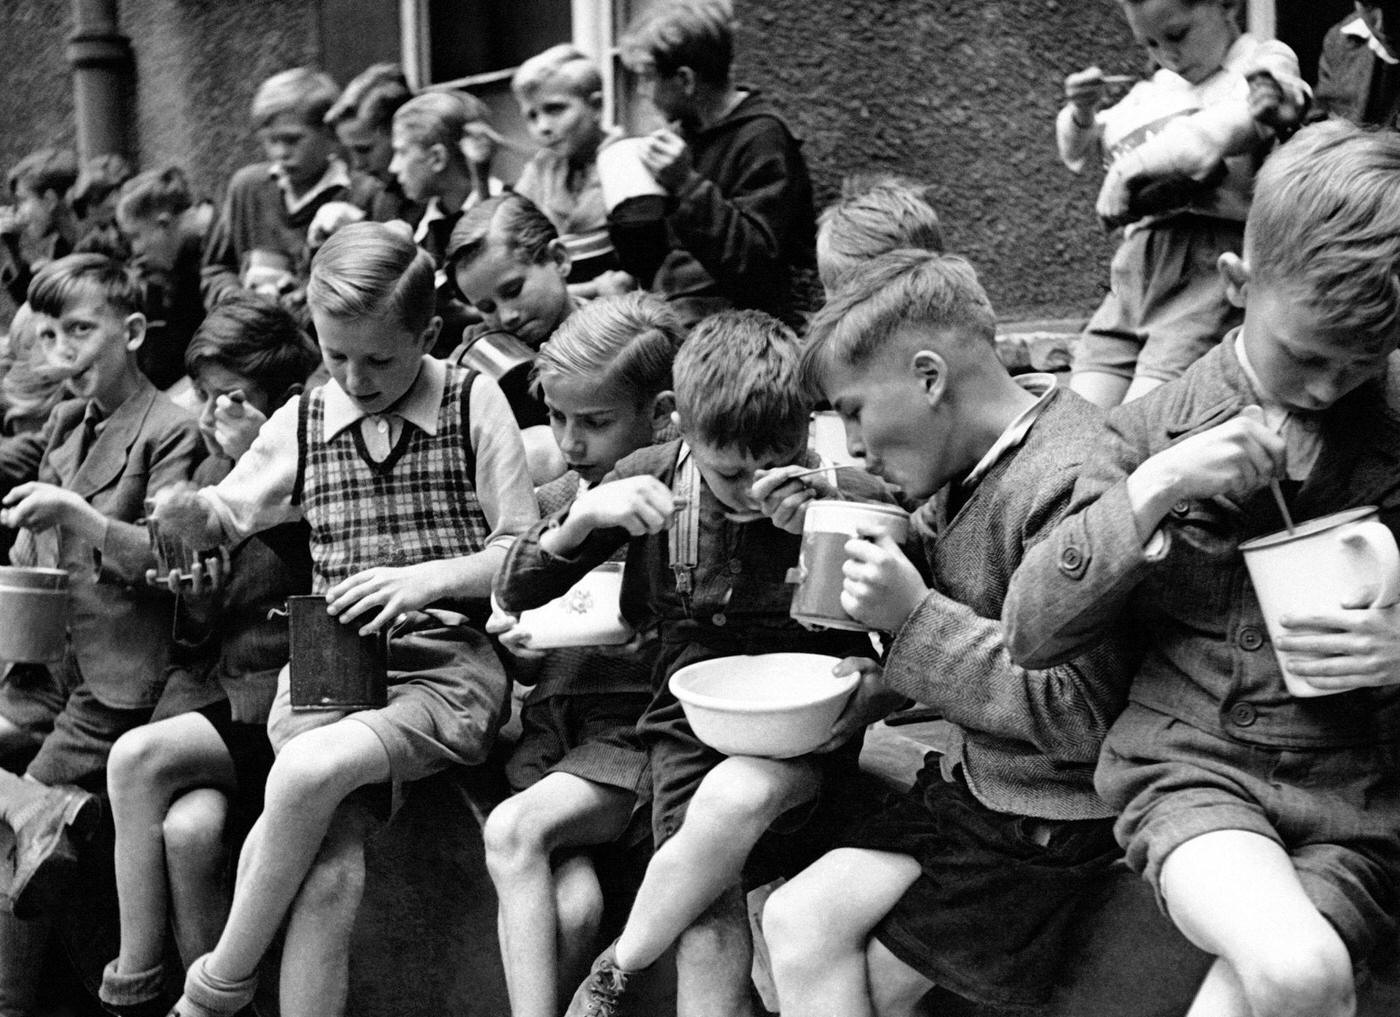
[[[895,636],[885,681],[956,726],[944,772],[960,763],[990,808],[1050,819],[1112,814],[1093,766],[1137,658],[1113,630],[1071,660],[1019,667],[1001,602],[1026,548],[1070,504],[1085,457],[1103,440],[1098,409],[1054,389],[1022,444],[1001,457],[948,518],[945,487],[914,517],[932,590]]]

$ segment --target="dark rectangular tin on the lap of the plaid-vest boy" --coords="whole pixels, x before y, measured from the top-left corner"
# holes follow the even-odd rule
[[[318,594],[287,598],[291,626],[291,709],[377,710],[388,702],[385,633],[361,636],[326,614]]]

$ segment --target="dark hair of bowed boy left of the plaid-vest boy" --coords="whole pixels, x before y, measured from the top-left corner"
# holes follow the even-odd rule
[[[281,403],[321,363],[315,345],[281,304],[258,293],[228,294],[209,312],[185,350],[193,378],[217,364],[252,378]]]

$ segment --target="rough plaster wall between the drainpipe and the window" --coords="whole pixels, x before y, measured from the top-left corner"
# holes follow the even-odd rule
[[[136,50],[140,161],[175,162],[217,198],[262,157],[248,122],[258,84],[316,60],[316,4],[287,0],[122,3]]]

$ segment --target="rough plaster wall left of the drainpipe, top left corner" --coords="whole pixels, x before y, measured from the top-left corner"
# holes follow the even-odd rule
[[[63,56],[70,31],[67,0],[0,0],[7,63],[0,88],[0,174],[35,148],[76,144],[73,85]]]

